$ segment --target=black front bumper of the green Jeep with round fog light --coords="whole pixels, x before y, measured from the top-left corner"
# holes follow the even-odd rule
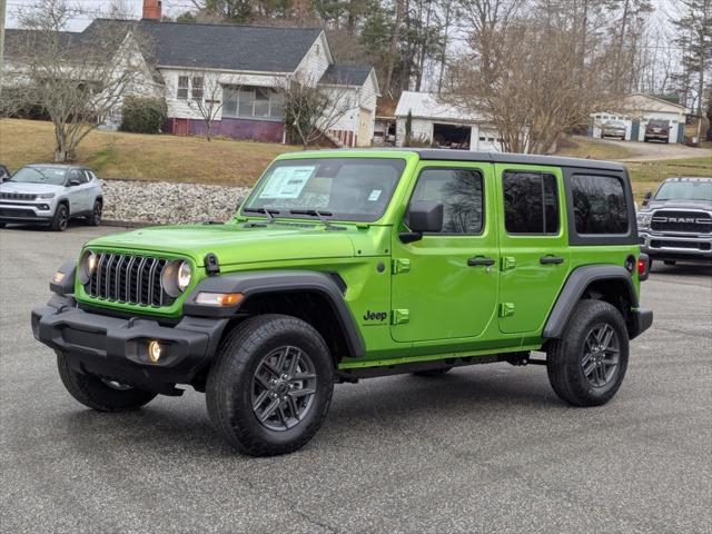
[[[34,337],[66,354],[78,370],[158,393],[194,384],[210,364],[227,322],[185,316],[175,326],[164,326],[85,312],[72,297],[58,295],[32,309]],[[148,359],[151,340],[165,347],[158,363]]]

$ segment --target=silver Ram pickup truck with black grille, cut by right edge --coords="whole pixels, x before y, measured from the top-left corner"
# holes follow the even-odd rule
[[[712,263],[712,178],[669,178],[637,212],[641,250],[666,265]]]

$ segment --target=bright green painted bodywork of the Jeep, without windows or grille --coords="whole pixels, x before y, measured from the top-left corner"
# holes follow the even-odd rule
[[[225,225],[145,228],[86,245],[95,251],[135,253],[187,259],[190,286],[171,306],[155,308],[92,298],[76,281],[76,298],[95,307],[137,315],[179,317],[185,296],[207,274],[204,258],[219,259],[220,275],[275,269],[337,273],[345,300],[365,344],[359,358],[344,357],[339,368],[478,356],[541,348],[541,332],[572,269],[591,264],[623,265],[637,246],[568,246],[561,169],[490,162],[421,161],[398,150],[305,151],[278,160],[305,158],[399,158],[403,176],[383,216],[374,222],[284,218],[266,222],[258,214],[238,215]],[[421,169],[472,168],[484,184],[484,227],[479,235],[425,235],[403,244],[404,216]],[[504,229],[502,171],[546,170],[556,176],[561,225],[557,235],[510,236]],[[260,186],[258,185],[257,188]],[[246,222],[258,222],[250,225]],[[563,257],[541,265],[543,255]],[[483,256],[492,267],[467,265]],[[639,290],[637,276],[634,277]]]

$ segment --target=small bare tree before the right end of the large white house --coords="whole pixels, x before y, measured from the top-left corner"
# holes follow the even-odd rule
[[[305,150],[328,137],[348,110],[357,107],[348,87],[339,83],[319,87],[308,80],[288,79],[278,92],[284,99],[287,131]]]

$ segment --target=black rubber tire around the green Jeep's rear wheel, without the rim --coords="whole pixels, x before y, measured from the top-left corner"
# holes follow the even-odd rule
[[[616,384],[604,395],[594,395],[578,369],[580,350],[583,336],[589,333],[592,323],[604,317],[617,333],[620,369]],[[603,300],[583,299],[576,305],[562,337],[550,342],[546,354],[548,382],[556,395],[573,406],[601,406],[607,403],[621,386],[627,367],[627,330],[619,309]]]

